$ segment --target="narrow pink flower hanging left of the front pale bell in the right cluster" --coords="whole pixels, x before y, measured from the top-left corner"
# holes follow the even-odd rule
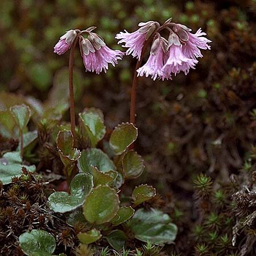
[[[157,77],[162,80],[164,80],[164,78],[171,79],[171,74],[168,77],[162,76],[163,65],[168,59],[167,51],[167,40],[160,36],[156,38],[152,44],[150,56],[146,64],[137,70],[138,76],[145,75],[148,77],[150,75],[153,80],[156,80]]]

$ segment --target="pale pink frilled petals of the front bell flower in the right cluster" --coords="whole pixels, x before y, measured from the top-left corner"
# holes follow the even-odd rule
[[[183,71],[185,75],[187,75],[189,68],[195,69],[198,60],[185,56],[182,47],[183,46],[175,46],[175,44],[172,44],[169,48],[168,60],[161,71],[162,79],[170,77],[171,73],[174,73],[176,76],[180,71]]]

